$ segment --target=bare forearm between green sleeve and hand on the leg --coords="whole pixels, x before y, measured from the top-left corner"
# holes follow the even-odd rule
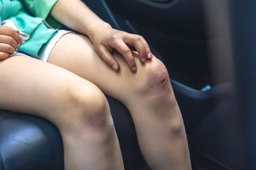
[[[99,29],[111,27],[80,0],[59,0],[51,15],[65,26],[89,37]]]

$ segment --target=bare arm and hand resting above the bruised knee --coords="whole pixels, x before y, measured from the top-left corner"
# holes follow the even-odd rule
[[[143,37],[113,29],[80,0],[59,0],[50,14],[69,28],[88,35],[96,52],[115,71],[119,70],[119,64],[111,55],[113,49],[124,56],[133,72],[136,72],[137,68],[128,46],[136,48],[140,62],[145,63],[146,60],[152,59],[148,43]]]

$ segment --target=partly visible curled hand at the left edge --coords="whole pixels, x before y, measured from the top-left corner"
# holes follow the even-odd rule
[[[0,26],[0,60],[8,58],[18,50],[18,44],[23,44],[19,33],[19,30]]]

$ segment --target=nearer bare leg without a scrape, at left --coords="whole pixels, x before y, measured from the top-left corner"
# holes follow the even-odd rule
[[[91,82],[25,56],[0,62],[0,109],[53,122],[64,143],[66,170],[124,170],[104,94]]]

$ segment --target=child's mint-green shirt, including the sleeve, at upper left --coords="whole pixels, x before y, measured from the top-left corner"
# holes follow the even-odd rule
[[[61,27],[61,24],[49,15],[57,1],[0,0],[0,22],[13,23],[24,41],[24,44],[19,45],[19,52],[36,58],[41,55],[45,44]]]

